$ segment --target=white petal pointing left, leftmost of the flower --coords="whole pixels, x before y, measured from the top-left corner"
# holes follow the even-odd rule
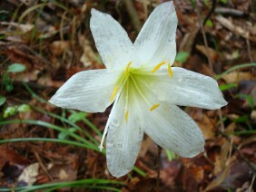
[[[111,104],[118,72],[90,70],[74,74],[54,94],[51,103],[62,108],[103,112]]]

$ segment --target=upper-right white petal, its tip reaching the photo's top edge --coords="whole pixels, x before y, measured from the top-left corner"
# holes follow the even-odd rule
[[[156,65],[174,62],[176,55],[177,15],[172,2],[157,6],[138,35],[134,47],[138,62]]]

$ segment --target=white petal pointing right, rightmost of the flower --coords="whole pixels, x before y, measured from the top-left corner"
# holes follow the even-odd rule
[[[156,72],[158,76],[140,78],[140,81],[152,90],[159,100],[170,104],[208,110],[220,109],[227,104],[218,82],[211,77],[179,67],[172,67],[172,72],[172,78],[167,70],[159,70]]]

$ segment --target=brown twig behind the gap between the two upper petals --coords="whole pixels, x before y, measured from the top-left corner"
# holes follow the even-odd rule
[[[142,28],[142,23],[139,19],[139,15],[138,15],[134,5],[133,5],[133,0],[123,0],[123,2],[127,8],[128,14],[130,15],[130,19],[132,20],[135,31],[137,33],[139,33]]]

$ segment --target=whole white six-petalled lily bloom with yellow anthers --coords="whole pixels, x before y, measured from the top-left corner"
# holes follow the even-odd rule
[[[177,105],[215,110],[227,102],[211,77],[172,67],[177,27],[172,2],[153,10],[134,43],[109,14],[93,9],[90,27],[106,69],[74,74],[50,102],[86,112],[103,112],[113,103],[103,132],[110,173],[121,177],[132,170],[144,132],[182,157],[201,153],[202,131]]]

